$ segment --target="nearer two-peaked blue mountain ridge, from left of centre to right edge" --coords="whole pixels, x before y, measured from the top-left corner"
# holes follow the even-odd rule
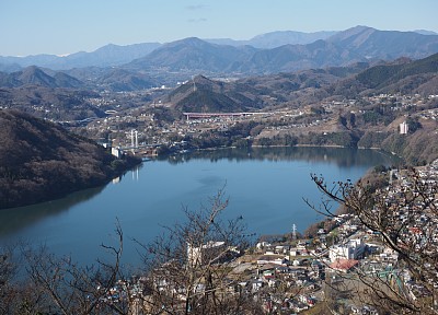
[[[228,46],[185,38],[169,43],[123,68],[131,71],[269,74],[303,69],[343,67],[355,62],[419,59],[438,52],[438,35],[378,31],[356,26],[327,39],[273,49]],[[192,73],[191,73],[192,71]]]

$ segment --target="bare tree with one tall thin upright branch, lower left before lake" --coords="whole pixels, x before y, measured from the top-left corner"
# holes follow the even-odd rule
[[[56,257],[46,248],[22,248],[27,281],[22,310],[5,314],[127,314],[128,301],[115,288],[123,279],[123,233],[116,226],[117,247],[102,245],[114,261],[83,267],[70,257]],[[117,301],[116,301],[117,300]],[[117,303],[116,303],[117,302]]]

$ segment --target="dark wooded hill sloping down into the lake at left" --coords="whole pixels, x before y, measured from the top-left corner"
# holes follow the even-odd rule
[[[103,185],[139,162],[116,160],[92,141],[27,114],[0,110],[0,209]]]

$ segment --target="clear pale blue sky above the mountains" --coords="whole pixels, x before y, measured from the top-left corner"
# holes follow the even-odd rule
[[[357,25],[438,33],[437,13],[438,0],[0,0],[0,56]]]

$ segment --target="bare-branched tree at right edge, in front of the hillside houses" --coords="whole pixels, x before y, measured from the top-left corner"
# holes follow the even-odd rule
[[[336,218],[332,206],[341,203],[397,255],[395,266],[387,270],[358,268],[348,290],[388,314],[437,314],[437,180],[411,172],[396,185],[376,189],[364,180],[330,186],[322,177],[312,179],[327,197],[320,207],[312,206],[314,210]]]

